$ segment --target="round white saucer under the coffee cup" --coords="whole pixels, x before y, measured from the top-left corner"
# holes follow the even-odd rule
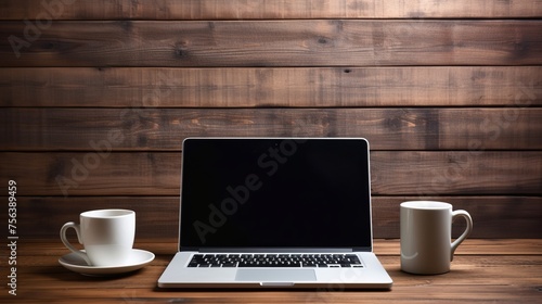
[[[88,266],[87,262],[75,253],[68,253],[59,258],[59,263],[67,269],[86,276],[112,276],[126,274],[143,268],[153,262],[154,253],[134,249],[131,252],[129,261],[122,266]]]

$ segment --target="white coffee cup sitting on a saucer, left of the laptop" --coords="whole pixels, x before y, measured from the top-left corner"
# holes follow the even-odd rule
[[[89,266],[121,266],[129,262],[136,237],[136,213],[129,210],[95,210],[79,215],[79,223],[68,221],[61,228],[61,240]],[[68,228],[77,232],[85,252],[66,238]]]

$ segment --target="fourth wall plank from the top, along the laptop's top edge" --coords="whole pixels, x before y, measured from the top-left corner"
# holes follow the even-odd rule
[[[0,109],[4,151],[180,151],[186,137],[364,137],[372,150],[542,150],[542,109]],[[66,126],[69,126],[66,128]]]

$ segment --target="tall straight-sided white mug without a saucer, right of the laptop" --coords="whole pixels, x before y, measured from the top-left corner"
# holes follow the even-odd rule
[[[464,210],[434,201],[401,203],[401,269],[417,275],[450,271],[457,246],[473,231],[473,219]],[[465,231],[452,242],[452,223],[464,217]]]

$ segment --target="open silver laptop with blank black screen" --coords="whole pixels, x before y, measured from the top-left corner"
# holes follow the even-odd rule
[[[188,138],[159,288],[390,289],[363,138]]]

